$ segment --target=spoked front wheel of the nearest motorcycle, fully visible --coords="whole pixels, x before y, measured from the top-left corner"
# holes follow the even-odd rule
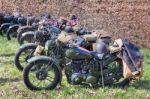
[[[52,61],[36,61],[24,69],[23,80],[30,90],[52,90],[60,82],[61,72]]]

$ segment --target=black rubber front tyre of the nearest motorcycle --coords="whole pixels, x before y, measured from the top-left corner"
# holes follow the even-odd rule
[[[42,60],[42,61],[36,61],[36,63],[45,63],[45,64],[48,64],[49,63],[49,60]],[[34,63],[29,63],[27,65],[27,67],[23,70],[23,81],[24,81],[24,84],[26,85],[26,87],[30,90],[52,90],[54,89],[61,81],[61,71],[59,70],[59,68],[57,68],[56,65],[52,65],[53,69],[54,69],[54,72],[55,72],[55,78],[53,80],[53,82],[47,86],[45,89],[40,89],[39,87],[37,86],[34,86],[31,82],[30,82],[30,79],[28,77],[28,74],[29,74],[29,71],[30,69],[32,68],[32,66],[34,66]]]

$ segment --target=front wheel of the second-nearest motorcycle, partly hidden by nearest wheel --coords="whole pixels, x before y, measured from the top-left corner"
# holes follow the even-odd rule
[[[33,57],[36,47],[36,44],[28,44],[17,51],[15,55],[15,65],[18,70],[23,71],[24,67],[27,66],[28,59]]]

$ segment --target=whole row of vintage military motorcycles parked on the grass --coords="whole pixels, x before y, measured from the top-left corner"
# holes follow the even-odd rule
[[[122,46],[103,30],[88,31],[75,15],[58,20],[50,15],[3,15],[1,20],[1,35],[20,44],[14,63],[30,90],[52,90],[62,76],[69,84],[92,87],[130,81],[123,78],[118,57]]]

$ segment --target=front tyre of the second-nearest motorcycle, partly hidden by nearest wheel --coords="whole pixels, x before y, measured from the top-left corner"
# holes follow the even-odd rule
[[[21,65],[21,63],[19,62],[19,57],[22,54],[22,52],[24,52],[26,49],[36,49],[37,45],[36,44],[29,44],[28,46],[22,47],[20,48],[16,54],[15,54],[15,66],[17,67],[17,69],[19,71],[23,71],[24,67]]]

